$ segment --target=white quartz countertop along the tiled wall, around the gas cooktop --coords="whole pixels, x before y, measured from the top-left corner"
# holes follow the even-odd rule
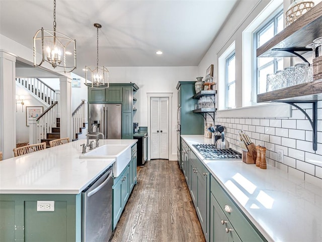
[[[268,241],[322,241],[322,182],[316,186],[270,165],[205,160],[192,145],[210,139],[181,137]]]

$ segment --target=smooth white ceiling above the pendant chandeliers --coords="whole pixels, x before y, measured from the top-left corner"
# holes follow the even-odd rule
[[[57,31],[76,39],[77,69],[197,66],[237,0],[56,0]],[[53,0],[0,0],[0,33],[32,49],[53,29]],[[163,55],[156,55],[162,50]]]

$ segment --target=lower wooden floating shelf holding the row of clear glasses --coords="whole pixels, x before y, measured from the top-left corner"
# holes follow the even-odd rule
[[[322,80],[298,84],[257,95],[257,102],[322,100]]]

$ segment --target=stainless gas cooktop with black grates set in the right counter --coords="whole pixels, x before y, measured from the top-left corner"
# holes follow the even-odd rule
[[[211,144],[197,144],[193,145],[199,151],[199,153],[206,160],[236,160],[241,159],[241,153],[228,148],[228,149],[218,149],[214,145]]]

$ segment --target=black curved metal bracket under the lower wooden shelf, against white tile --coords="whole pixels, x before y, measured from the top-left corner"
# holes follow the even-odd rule
[[[300,110],[304,115],[307,117],[308,121],[310,122],[312,126],[312,140],[313,140],[313,150],[317,150],[317,101],[276,101],[276,102],[284,102],[287,104],[290,104],[294,107],[296,107],[298,110]],[[312,104],[312,119],[309,117],[309,115],[303,110],[301,107],[296,105],[295,103],[311,103]]]

